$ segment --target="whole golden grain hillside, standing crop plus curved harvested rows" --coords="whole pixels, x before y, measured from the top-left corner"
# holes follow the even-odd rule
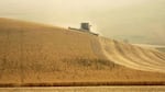
[[[165,82],[165,55],[92,34],[0,19],[0,85]]]

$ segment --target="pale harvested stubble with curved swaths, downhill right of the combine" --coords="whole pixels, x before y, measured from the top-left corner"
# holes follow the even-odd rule
[[[144,71],[165,72],[165,54],[122,42],[99,38],[107,58],[116,64]]]

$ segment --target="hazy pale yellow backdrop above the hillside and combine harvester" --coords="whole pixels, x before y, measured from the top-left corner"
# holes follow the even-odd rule
[[[133,43],[165,44],[165,0],[0,0],[0,16],[79,27]]]

